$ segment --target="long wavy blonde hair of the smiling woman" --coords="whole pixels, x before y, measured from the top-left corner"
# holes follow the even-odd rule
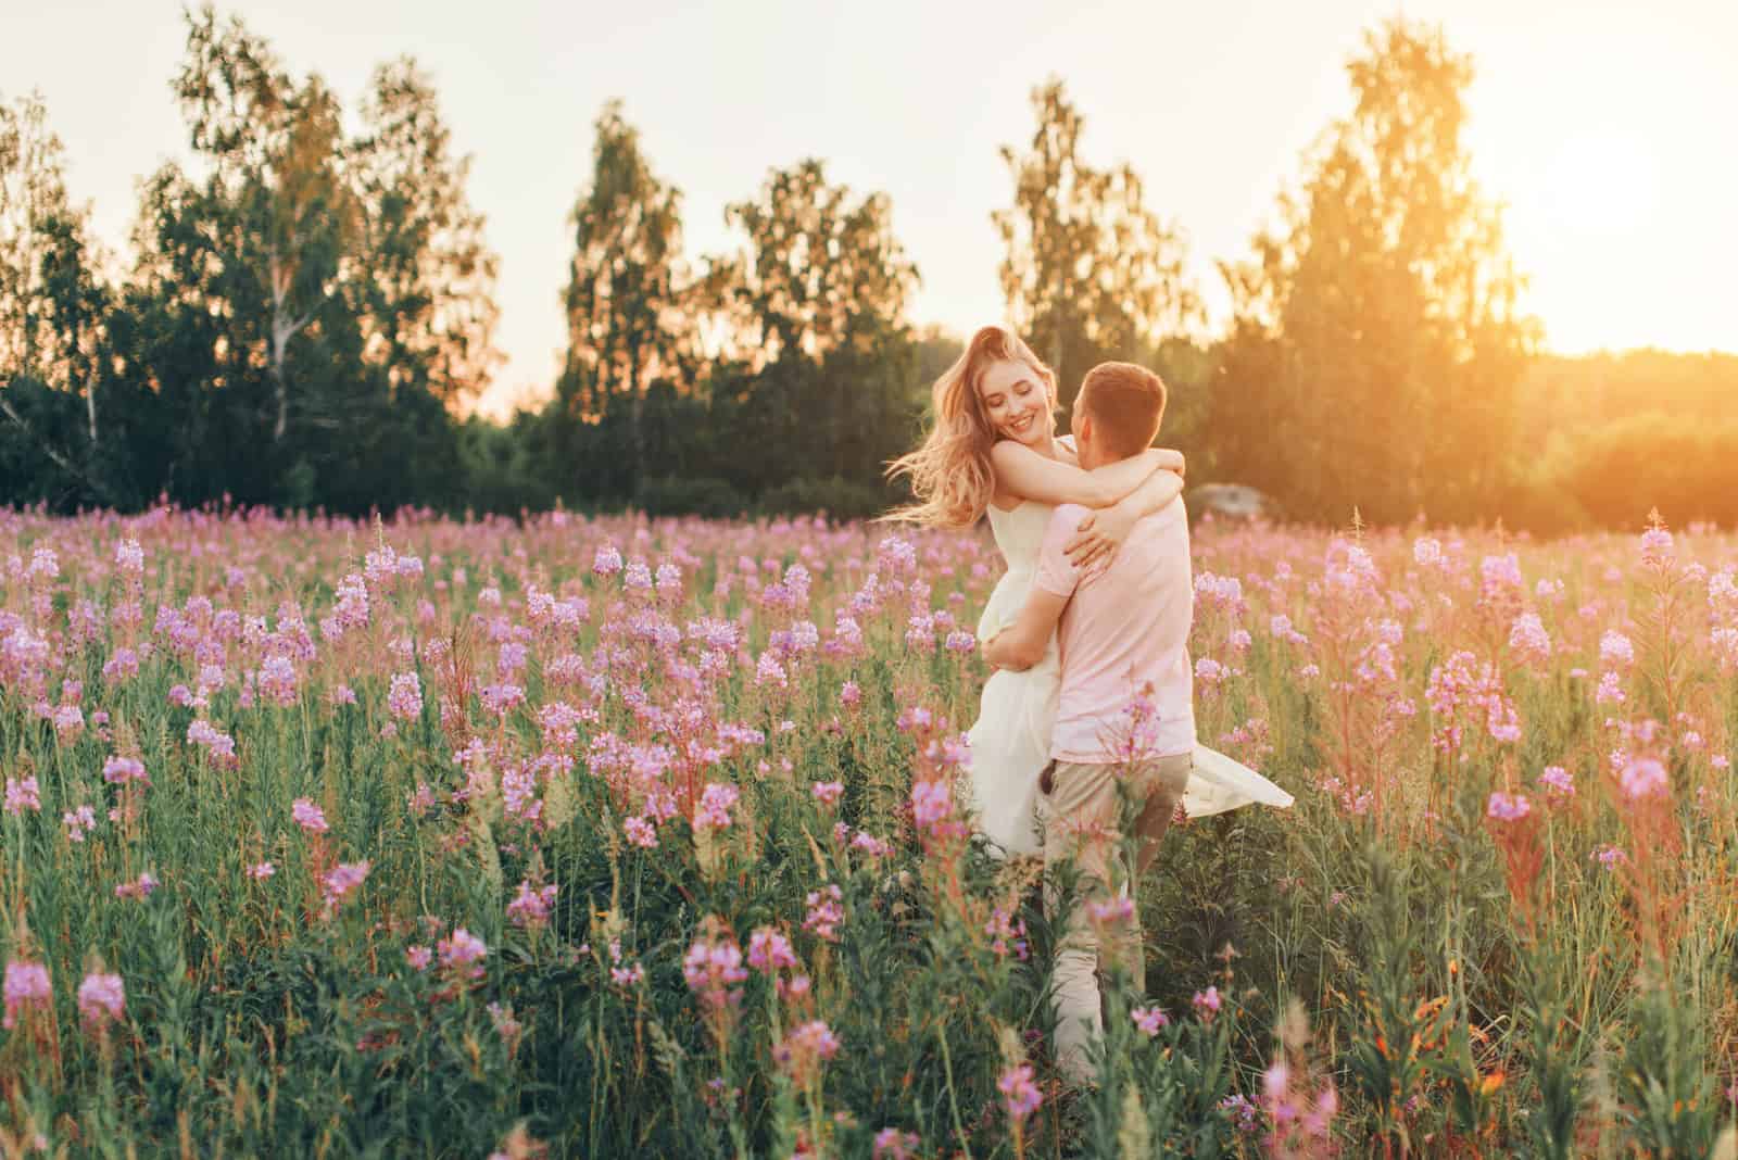
[[[992,365],[1008,361],[1032,368],[1045,384],[1048,412],[1055,412],[1055,373],[1013,332],[1003,326],[980,328],[954,365],[935,380],[933,425],[923,446],[899,457],[886,469],[888,479],[911,478],[911,491],[918,502],[899,507],[881,519],[944,528],[963,528],[978,521],[996,495],[996,471],[989,458],[996,431],[984,413],[978,382]]]

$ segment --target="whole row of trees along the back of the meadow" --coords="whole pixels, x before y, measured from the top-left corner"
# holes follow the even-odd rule
[[[726,208],[733,248],[693,255],[681,189],[607,104],[547,401],[464,417],[501,361],[497,259],[428,75],[377,68],[348,134],[339,96],[240,19],[184,19],[172,90],[195,165],[141,182],[123,273],[70,200],[42,101],[0,104],[0,500],[862,516],[897,498],[885,464],[959,339],[911,321],[919,271],[885,193],[819,158],[773,167]],[[1470,174],[1470,57],[1396,19],[1347,78],[1350,111],[1248,255],[1218,264],[1217,332],[1147,181],[1088,156],[1060,80],[1034,89],[991,219],[1008,321],[1064,406],[1093,363],[1144,361],[1171,384],[1163,438],[1196,479],[1304,519],[1635,523],[1648,500],[1602,472],[1651,439],[1674,450],[1668,517],[1738,521],[1717,498],[1738,495],[1738,431],[1648,417],[1662,380],[1729,394],[1733,359],[1642,358],[1625,396],[1595,361],[1540,356]]]

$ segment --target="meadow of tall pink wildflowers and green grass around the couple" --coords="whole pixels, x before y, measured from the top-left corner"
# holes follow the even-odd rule
[[[1298,801],[1173,828],[1074,1092],[985,535],[0,512],[0,1148],[1738,1155],[1738,538],[1194,552]]]

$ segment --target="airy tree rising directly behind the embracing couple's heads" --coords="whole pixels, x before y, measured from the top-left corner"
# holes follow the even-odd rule
[[[1182,238],[1147,210],[1140,175],[1081,158],[1085,118],[1060,80],[1032,90],[1032,111],[1027,151],[1001,149],[1013,205],[991,219],[1006,245],[1010,321],[1057,372],[1071,405],[1093,363],[1135,358],[1189,328],[1201,306],[1184,278]]]

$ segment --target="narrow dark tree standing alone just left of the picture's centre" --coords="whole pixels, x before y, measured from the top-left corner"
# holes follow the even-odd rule
[[[574,203],[568,347],[556,382],[570,422],[600,422],[627,403],[634,491],[645,484],[645,401],[657,379],[681,379],[692,326],[681,260],[681,191],[662,182],[619,101],[596,122],[591,186]]]

